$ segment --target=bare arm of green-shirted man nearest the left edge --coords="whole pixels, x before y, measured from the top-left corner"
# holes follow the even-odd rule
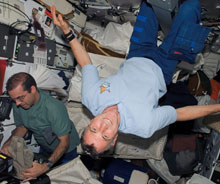
[[[0,152],[9,155],[8,153],[8,146],[11,143],[11,139],[13,136],[18,136],[18,137],[24,137],[25,134],[27,133],[27,129],[24,126],[19,126],[16,127],[13,131],[12,131],[12,135],[9,137],[9,139],[4,143],[4,145],[2,146]]]

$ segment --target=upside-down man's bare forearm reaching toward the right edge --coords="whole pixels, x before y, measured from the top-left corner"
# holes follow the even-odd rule
[[[186,106],[176,109],[176,112],[177,121],[188,121],[220,112],[220,104]]]

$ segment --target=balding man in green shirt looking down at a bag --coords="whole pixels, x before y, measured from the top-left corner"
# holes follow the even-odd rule
[[[47,172],[57,161],[64,163],[77,156],[79,135],[62,102],[39,90],[34,78],[24,72],[11,76],[6,89],[15,102],[13,113],[16,129],[12,136],[24,137],[29,130],[41,149],[50,154],[45,163],[33,162],[32,168],[21,173],[24,181]],[[1,152],[8,154],[11,137],[2,146]]]

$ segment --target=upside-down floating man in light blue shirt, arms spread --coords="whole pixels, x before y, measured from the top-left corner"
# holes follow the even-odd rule
[[[199,25],[200,9],[198,0],[185,1],[158,47],[158,22],[152,8],[143,1],[127,60],[115,74],[100,79],[98,70],[72,36],[68,24],[61,15],[56,16],[55,7],[51,7],[54,24],[70,38],[73,54],[82,67],[82,103],[95,116],[81,139],[87,153],[96,155],[113,146],[118,131],[147,138],[176,121],[220,111],[220,105],[174,109],[158,104],[179,60],[192,63],[203,48],[209,29]]]

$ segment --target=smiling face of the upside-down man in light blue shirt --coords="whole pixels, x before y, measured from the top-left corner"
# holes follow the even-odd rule
[[[112,106],[91,120],[83,136],[84,144],[93,145],[96,152],[102,153],[117,140],[120,114],[117,106]]]

